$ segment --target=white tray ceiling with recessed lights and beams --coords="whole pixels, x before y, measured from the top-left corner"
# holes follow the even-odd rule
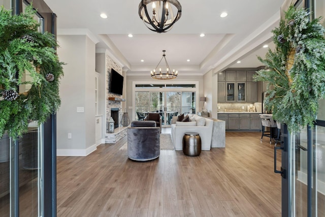
[[[271,30],[278,25],[284,2],[178,1],[182,6],[181,18],[170,32],[158,34],[139,18],[140,0],[45,0],[57,15],[58,34],[76,34],[80,29],[88,29],[89,35],[99,41],[96,49],[112,53],[128,75],[148,74],[158,64],[163,50],[170,68],[184,75],[261,66],[256,55],[265,56],[264,44],[273,48]],[[221,18],[224,11],[228,16]],[[101,18],[101,13],[108,18]],[[205,37],[200,37],[201,33]]]

